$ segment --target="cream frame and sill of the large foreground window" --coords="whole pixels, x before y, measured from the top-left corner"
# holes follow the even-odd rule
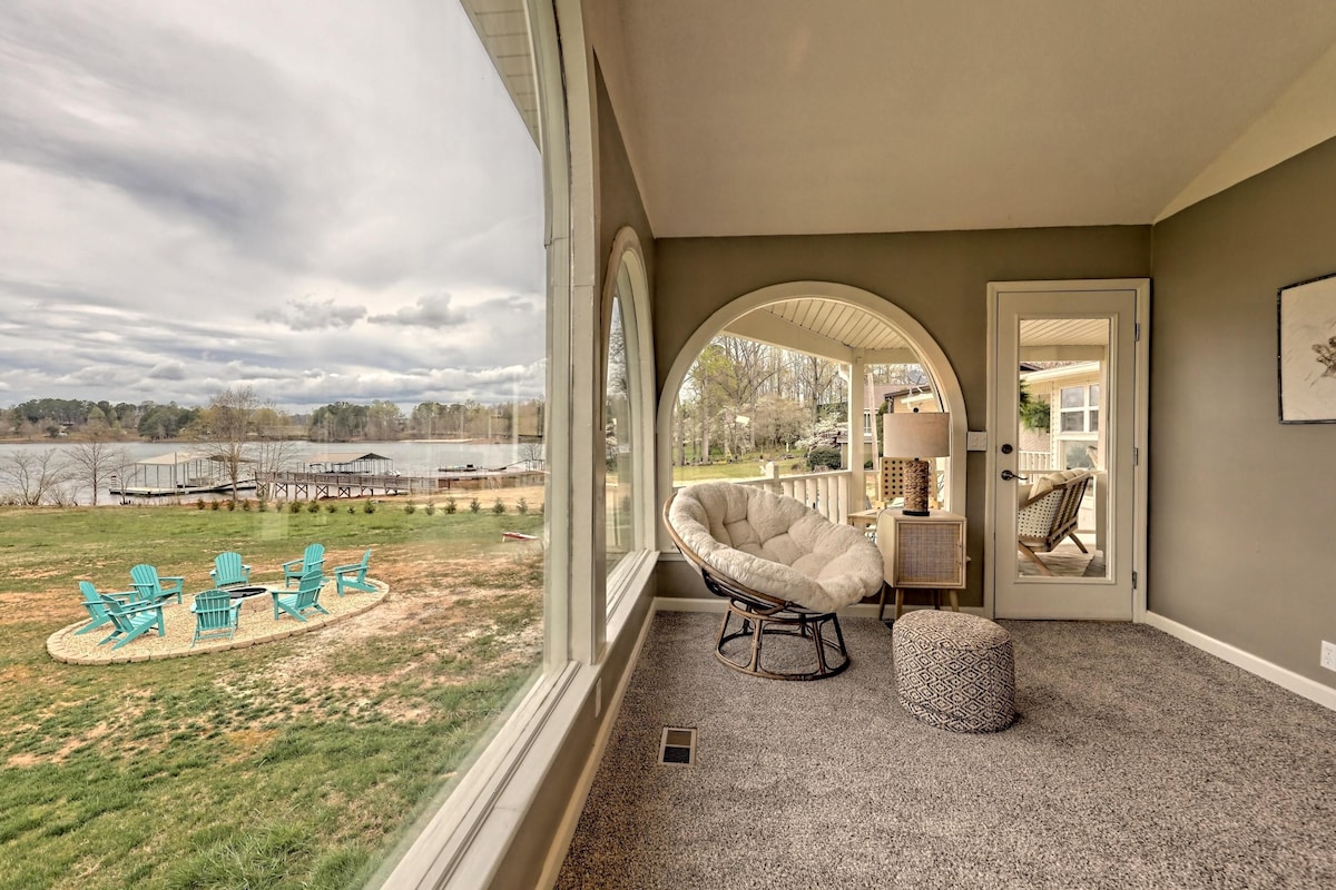
[[[538,97],[546,203],[548,386],[544,412],[546,571],[544,673],[494,727],[458,785],[438,794],[369,886],[476,887],[496,875],[516,841],[561,738],[595,690],[609,615],[595,583],[591,528],[596,488],[591,448],[601,404],[595,284],[595,121],[577,0],[524,0]],[[561,19],[561,31],[557,19]],[[564,40],[560,35],[564,35]],[[601,394],[599,394],[601,395]],[[573,455],[591,455],[574,460]],[[601,463],[601,462],[599,462]],[[627,560],[631,562],[631,560]],[[601,563],[600,563],[601,566]],[[637,576],[644,575],[644,567]],[[601,582],[601,578],[599,578]],[[625,610],[616,620],[624,623]]]

